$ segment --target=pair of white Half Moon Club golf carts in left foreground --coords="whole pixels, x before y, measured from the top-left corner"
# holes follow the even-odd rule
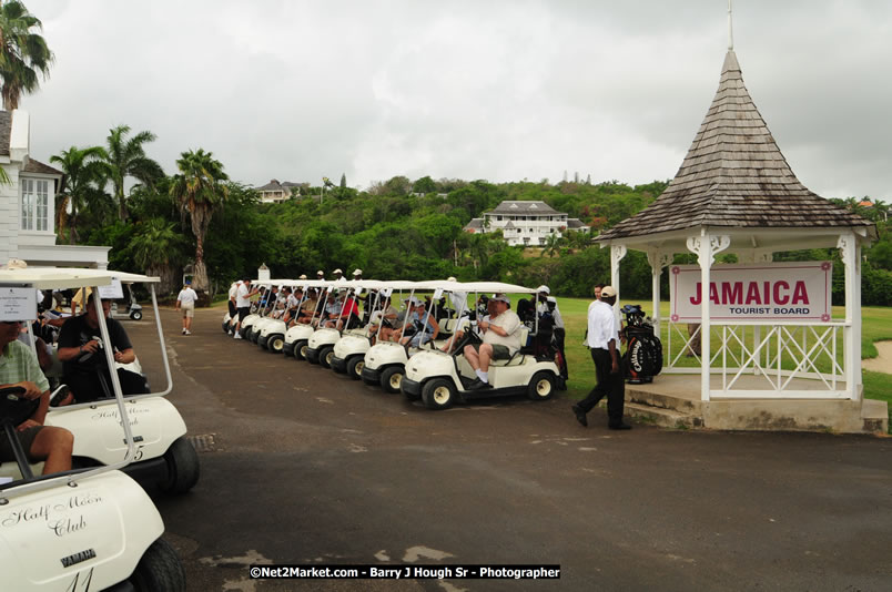
[[[14,462],[0,463],[2,590],[185,590],[180,558],[162,539],[161,516],[131,478],[173,493],[187,491],[199,478],[185,423],[165,398],[172,378],[152,286],[158,278],[97,269],[2,269],[0,305],[9,306],[0,306],[0,316],[6,315],[0,320],[33,319],[36,289],[92,288],[99,295],[93,305],[102,344],[97,354],[115,368],[102,299],[121,297],[119,282],[144,282],[151,289],[166,388],[125,397],[111,371],[110,398],[50,407],[44,425],[68,429],[74,445],[72,469],[47,476],[40,474],[42,463],[29,462],[16,437],[16,426],[34,412],[36,401],[21,388],[0,390],[0,437],[16,456]]]

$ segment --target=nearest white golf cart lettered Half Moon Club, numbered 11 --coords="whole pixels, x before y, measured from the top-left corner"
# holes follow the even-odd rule
[[[64,269],[0,271],[0,286],[7,293],[10,288],[26,288],[33,294],[36,287],[110,284],[109,273],[101,276]],[[102,309],[100,298],[94,304]],[[112,367],[109,331],[101,314],[99,317],[103,319],[99,328],[104,355]],[[126,415],[126,402],[118,376],[111,376],[114,399],[105,409],[122,417]],[[42,463],[29,465],[14,433],[14,426],[34,409],[36,401],[22,395],[20,387],[0,390],[0,437],[8,439],[17,457],[14,462],[0,465],[2,589],[184,591],[185,571],[176,552],[161,538],[161,514],[145,491],[120,470],[139,451],[131,422],[114,423],[115,438],[124,446],[113,463],[39,476]],[[77,433],[74,438],[77,446]]]

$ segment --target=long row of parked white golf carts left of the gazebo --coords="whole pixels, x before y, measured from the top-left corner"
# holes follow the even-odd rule
[[[456,402],[475,398],[527,395],[544,400],[566,385],[558,364],[564,364],[551,339],[547,315],[534,314],[521,328],[518,349],[510,359],[493,360],[488,378],[491,388],[472,389],[477,377],[464,349],[482,340],[477,333],[478,319],[486,314],[485,295],[498,293],[535,299],[535,289],[498,282],[459,283],[381,282],[373,279],[346,280],[288,280],[260,282],[260,297],[252,306],[239,331],[243,339],[255,343],[286,358],[306,360],[346,374],[366,385],[381,387],[386,392],[403,392],[409,400],[418,400],[428,409],[447,409]],[[342,306],[336,318],[324,319],[322,305],[313,308],[310,323],[288,326],[281,308],[275,304],[273,287],[301,290],[301,304],[311,290],[317,290],[318,300],[339,294],[344,302],[364,300],[362,314],[352,314]],[[479,296],[484,295],[483,298]],[[413,317],[408,303],[426,300],[419,316]],[[384,315],[387,305],[403,305],[396,319]],[[348,310],[351,314],[344,313]],[[437,319],[435,338],[410,340],[414,331],[428,327],[428,317]],[[401,318],[402,317],[402,318]],[[326,327],[325,321],[334,325]],[[223,318],[223,330],[233,331],[237,318],[229,314]],[[382,330],[398,330],[407,343],[382,340]],[[428,329],[429,330],[429,329]]]

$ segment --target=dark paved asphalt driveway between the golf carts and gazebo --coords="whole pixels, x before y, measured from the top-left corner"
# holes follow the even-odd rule
[[[192,492],[154,496],[191,590],[892,590],[891,438],[612,432],[601,409],[585,429],[562,396],[432,412],[227,338],[222,314],[186,337],[162,312],[170,398],[207,443]],[[149,370],[151,323],[126,323]],[[251,581],[252,563],[561,572]]]

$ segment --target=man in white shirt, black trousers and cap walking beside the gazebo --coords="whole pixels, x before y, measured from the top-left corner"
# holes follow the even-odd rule
[[[617,292],[612,286],[601,289],[601,299],[595,300],[588,307],[588,334],[586,345],[591,351],[595,363],[598,384],[588,394],[588,397],[572,406],[576,420],[588,426],[586,414],[607,396],[607,426],[611,430],[629,430],[631,426],[622,422],[622,411],[626,405],[626,381],[619,359],[617,335],[619,324],[614,314],[614,304],[617,302]]]

